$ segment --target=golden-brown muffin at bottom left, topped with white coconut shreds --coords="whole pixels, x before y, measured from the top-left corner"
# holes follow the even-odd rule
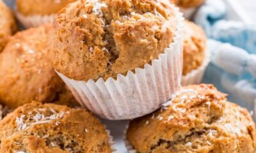
[[[104,125],[90,112],[29,103],[0,121],[0,152],[111,152]]]

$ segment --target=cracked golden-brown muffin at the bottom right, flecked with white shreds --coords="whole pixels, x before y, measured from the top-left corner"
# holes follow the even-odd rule
[[[255,124],[245,108],[213,85],[190,85],[161,110],[132,120],[127,139],[138,153],[253,153]]]

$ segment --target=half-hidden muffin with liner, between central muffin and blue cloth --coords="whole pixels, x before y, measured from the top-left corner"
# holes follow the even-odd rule
[[[206,41],[204,30],[193,22],[185,20],[182,85],[201,82],[210,61]]]

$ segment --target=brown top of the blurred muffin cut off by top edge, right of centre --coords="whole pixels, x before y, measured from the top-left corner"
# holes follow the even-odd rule
[[[181,8],[195,8],[204,4],[205,0],[170,0],[173,4]]]

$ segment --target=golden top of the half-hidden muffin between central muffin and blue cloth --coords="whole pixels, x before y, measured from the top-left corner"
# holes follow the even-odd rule
[[[202,66],[205,57],[206,40],[202,27],[185,20],[182,75],[186,75],[193,69]]]

